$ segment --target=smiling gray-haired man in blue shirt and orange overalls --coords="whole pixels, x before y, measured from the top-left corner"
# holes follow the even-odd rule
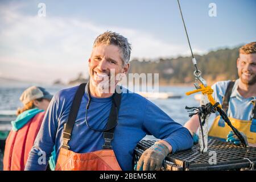
[[[189,131],[146,98],[124,88],[110,92],[110,73],[116,77],[129,71],[130,52],[127,39],[115,32],[96,38],[89,83],[55,94],[26,170],[46,169],[38,153],[45,152],[47,161],[53,146],[56,170],[131,170],[133,150],[145,135],[162,140],[144,152],[138,169],[159,169],[168,153],[192,146]]]

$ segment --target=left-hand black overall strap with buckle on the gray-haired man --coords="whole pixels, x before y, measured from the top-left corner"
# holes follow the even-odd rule
[[[82,101],[82,96],[84,96],[85,86],[86,83],[79,85],[79,88],[77,89],[72,102],[70,113],[68,115],[68,122],[64,125],[62,147],[66,149],[69,149],[68,142],[71,139],[72,129],[76,121],[77,113]]]

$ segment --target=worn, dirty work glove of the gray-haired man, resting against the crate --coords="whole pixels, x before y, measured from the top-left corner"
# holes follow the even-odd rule
[[[154,171],[159,170],[163,165],[163,160],[169,154],[168,147],[161,143],[155,142],[150,148],[145,150],[139,158],[136,167],[137,171]]]

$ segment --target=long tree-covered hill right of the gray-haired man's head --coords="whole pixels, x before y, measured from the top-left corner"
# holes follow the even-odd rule
[[[208,84],[215,81],[236,79],[236,60],[239,48],[219,49],[206,55],[195,55],[199,70]],[[188,84],[194,81],[195,68],[191,57],[176,59],[137,60],[130,62],[130,73],[159,73],[159,84]]]

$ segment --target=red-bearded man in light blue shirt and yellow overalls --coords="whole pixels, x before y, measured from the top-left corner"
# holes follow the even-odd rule
[[[222,105],[232,125],[251,146],[256,146],[256,42],[242,46],[237,59],[238,80],[220,81],[212,86],[213,98]],[[196,137],[198,115],[184,125]],[[210,137],[241,144],[230,127],[218,115],[209,130]]]

